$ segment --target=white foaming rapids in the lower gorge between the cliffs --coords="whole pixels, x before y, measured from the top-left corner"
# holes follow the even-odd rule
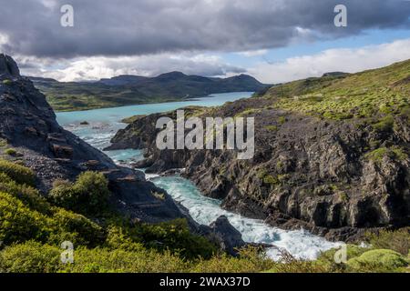
[[[172,177],[154,177],[151,179],[157,186],[166,189],[169,195],[190,210],[197,222],[209,226],[219,216],[227,216],[231,225],[238,229],[243,240],[250,243],[271,244],[286,249],[292,256],[302,259],[314,259],[321,251],[339,244],[326,241],[323,237],[313,236],[307,231],[286,231],[268,226],[263,221],[231,213],[220,208],[220,201],[202,196],[196,186],[189,180]],[[276,248],[269,249],[268,256],[278,257]]]

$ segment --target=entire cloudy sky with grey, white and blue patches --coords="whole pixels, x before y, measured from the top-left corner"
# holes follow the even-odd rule
[[[73,7],[73,26],[63,5]],[[345,5],[347,26],[334,25]],[[249,74],[277,84],[410,59],[406,0],[0,0],[0,52],[24,75]],[[66,17],[66,18],[65,18]]]

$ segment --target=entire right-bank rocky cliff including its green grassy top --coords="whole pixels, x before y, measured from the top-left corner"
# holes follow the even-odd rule
[[[185,168],[183,175],[225,209],[352,241],[369,229],[410,225],[409,72],[405,62],[324,75],[218,108],[186,109],[200,118],[254,116],[256,152],[248,161],[227,150],[159,151],[155,123],[175,112],[136,117],[112,148],[146,148],[136,166],[150,172]]]

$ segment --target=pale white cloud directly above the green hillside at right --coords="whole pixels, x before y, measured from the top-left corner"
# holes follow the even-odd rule
[[[282,63],[261,63],[248,73],[264,83],[283,83],[324,73],[355,73],[410,59],[410,38],[361,48],[329,49],[316,55],[302,55]]]

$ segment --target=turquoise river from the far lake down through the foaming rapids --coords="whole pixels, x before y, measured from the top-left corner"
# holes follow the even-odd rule
[[[91,146],[102,149],[109,146],[109,140],[118,129],[126,125],[120,121],[132,115],[175,110],[188,105],[217,106],[225,102],[248,98],[251,92],[215,94],[197,100],[152,105],[131,105],[88,111],[57,113],[57,121],[67,130],[78,135]],[[88,125],[80,125],[87,121]],[[138,150],[119,150],[106,152],[116,162],[127,162],[142,158]],[[189,180],[179,176],[147,176],[153,183],[166,189],[169,195],[190,210],[190,215],[200,224],[210,225],[219,216],[227,216],[231,225],[238,229],[243,239],[252,243],[265,243],[286,249],[292,256],[301,259],[314,259],[321,251],[339,244],[331,243],[320,236],[313,236],[305,230],[288,231],[268,226],[261,220],[250,219],[220,208],[220,201],[202,196],[198,188]],[[278,251],[269,249],[267,255],[276,259]]]

